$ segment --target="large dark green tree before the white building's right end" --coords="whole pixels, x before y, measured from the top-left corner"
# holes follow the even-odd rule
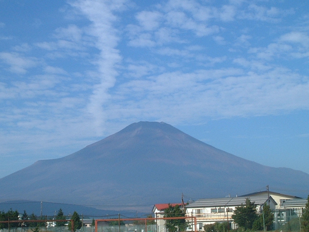
[[[254,221],[257,219],[256,206],[249,198],[246,199],[246,204],[235,208],[232,219],[244,230],[251,230]]]

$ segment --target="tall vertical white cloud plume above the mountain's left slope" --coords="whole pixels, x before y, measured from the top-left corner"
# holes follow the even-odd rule
[[[104,131],[104,103],[110,98],[108,89],[113,87],[118,75],[115,66],[121,62],[121,56],[116,46],[119,41],[117,30],[113,23],[117,19],[115,11],[122,8],[124,1],[85,0],[71,3],[82,15],[91,21],[87,33],[96,38],[95,47],[99,49],[98,67],[99,83],[94,85],[87,110],[93,118],[97,135]]]

